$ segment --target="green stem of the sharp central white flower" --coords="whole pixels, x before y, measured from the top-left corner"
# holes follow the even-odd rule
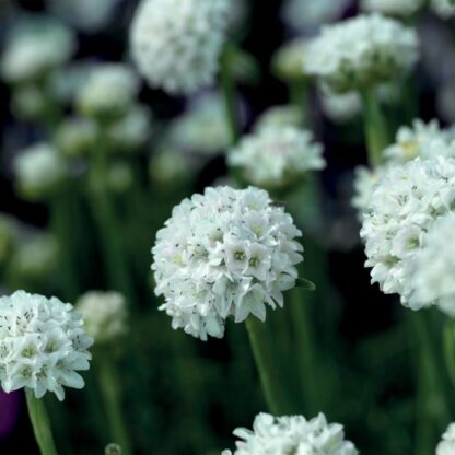
[[[253,316],[249,316],[245,323],[269,410],[275,416],[287,413],[289,402],[282,384],[283,378],[280,377],[283,372],[278,371],[266,324]]]

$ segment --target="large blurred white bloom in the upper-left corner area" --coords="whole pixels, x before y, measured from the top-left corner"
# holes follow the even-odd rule
[[[34,81],[67,61],[73,54],[73,34],[59,22],[33,18],[20,23],[8,37],[1,59],[5,81]]]

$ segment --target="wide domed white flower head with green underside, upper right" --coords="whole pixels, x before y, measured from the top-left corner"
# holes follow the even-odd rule
[[[376,86],[405,75],[419,57],[417,34],[380,14],[325,26],[310,43],[304,70],[334,92]]]

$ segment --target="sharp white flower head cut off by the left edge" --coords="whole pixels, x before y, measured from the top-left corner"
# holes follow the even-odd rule
[[[37,398],[82,388],[77,371],[89,370],[93,340],[82,317],[57,298],[16,291],[0,298],[0,383],[4,392],[32,388]]]

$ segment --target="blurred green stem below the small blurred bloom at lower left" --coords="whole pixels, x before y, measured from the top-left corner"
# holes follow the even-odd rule
[[[107,355],[105,353],[104,358],[102,355],[98,357],[96,374],[98,376],[100,389],[110,429],[110,438],[120,444],[122,455],[131,455],[131,444],[121,406],[121,389],[118,382],[118,373],[113,360]]]

